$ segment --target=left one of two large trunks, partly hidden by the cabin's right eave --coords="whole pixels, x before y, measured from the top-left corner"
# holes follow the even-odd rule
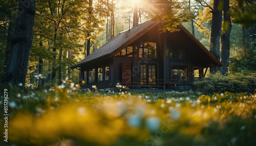
[[[220,60],[220,38],[221,38],[221,22],[222,10],[219,10],[221,0],[214,0],[214,8],[212,11],[211,34],[210,34],[210,53]],[[210,67],[210,73],[215,74],[217,67]]]

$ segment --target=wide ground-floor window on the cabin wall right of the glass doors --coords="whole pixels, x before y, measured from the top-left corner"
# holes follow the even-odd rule
[[[187,65],[170,65],[170,80],[187,80]]]

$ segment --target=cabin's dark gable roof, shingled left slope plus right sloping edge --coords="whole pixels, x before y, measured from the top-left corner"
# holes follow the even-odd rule
[[[112,38],[110,41],[103,44],[99,47],[96,51],[92,54],[78,62],[76,65],[73,65],[71,68],[76,68],[81,66],[82,64],[86,64],[88,62],[94,61],[96,59],[102,58],[104,56],[109,56],[116,50],[121,47],[126,47],[146,32],[157,26],[161,21],[160,20],[152,20],[149,19],[145,22],[142,22],[136,26],[134,26],[130,30],[123,31],[119,33],[117,36]],[[190,37],[200,48],[201,50],[208,56],[210,59],[218,66],[222,66],[223,64],[214,56],[212,55],[185,27],[179,25],[179,28],[185,32],[188,37]]]

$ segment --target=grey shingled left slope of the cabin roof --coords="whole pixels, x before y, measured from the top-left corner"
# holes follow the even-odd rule
[[[79,64],[86,63],[88,61],[95,60],[97,58],[100,58],[102,56],[110,55],[114,51],[116,51],[118,48],[122,47],[124,44],[129,42],[132,38],[136,37],[138,34],[140,34],[142,31],[147,29],[148,27],[153,27],[157,25],[160,21],[154,21],[152,19],[149,19],[143,23],[138,24],[137,26],[134,26],[130,30],[123,31],[119,33],[117,36],[112,38],[110,41],[103,44],[101,47],[99,47],[96,51],[94,51],[92,54],[78,62],[76,65],[72,66],[78,67]],[[155,23],[155,25],[153,25]]]

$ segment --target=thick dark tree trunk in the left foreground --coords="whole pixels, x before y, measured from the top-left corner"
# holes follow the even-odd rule
[[[35,1],[19,0],[18,17],[12,39],[12,54],[6,72],[7,82],[24,86],[28,71],[29,54],[33,40]]]

